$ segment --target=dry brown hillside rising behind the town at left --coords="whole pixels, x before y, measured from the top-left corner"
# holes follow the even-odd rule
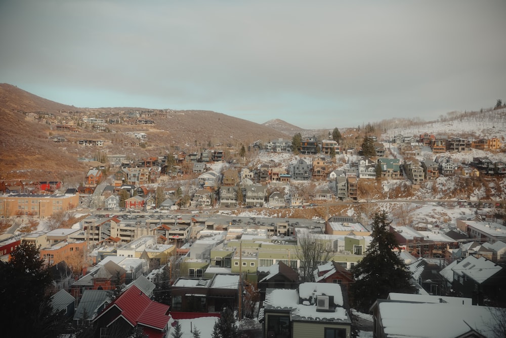
[[[105,132],[94,132],[91,125],[82,123],[83,117],[107,120],[133,110],[147,109],[76,108],[38,97],[12,85],[0,84],[0,178],[80,181],[88,166],[78,162],[79,157],[127,154],[136,160],[173,153],[177,149],[200,151],[210,147],[232,150],[241,144],[247,147],[258,139],[268,141],[290,137],[253,122],[201,110],[152,110],[154,116],[147,119],[153,120],[154,125],[109,124]],[[52,116],[41,120],[40,112]],[[74,123],[78,132],[57,132],[55,125],[62,122]],[[133,131],[148,135],[146,146],[124,146],[126,141],[135,142],[135,138],[127,134]],[[60,143],[48,139],[55,135],[68,141]],[[103,140],[104,146],[79,145],[80,139]]]

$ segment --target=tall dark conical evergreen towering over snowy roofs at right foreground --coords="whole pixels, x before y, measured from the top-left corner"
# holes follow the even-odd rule
[[[376,212],[372,222],[372,241],[352,270],[351,285],[354,308],[367,312],[376,299],[386,299],[390,292],[414,293],[411,273],[397,254],[399,243],[389,231],[387,213]]]

